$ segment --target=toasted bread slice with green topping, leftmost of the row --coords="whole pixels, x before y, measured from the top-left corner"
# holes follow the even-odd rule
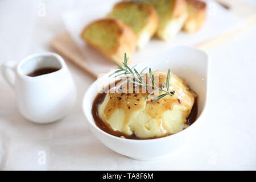
[[[137,36],[127,24],[118,19],[100,19],[90,23],[81,34],[82,39],[121,64],[125,53],[131,57],[136,48]]]

